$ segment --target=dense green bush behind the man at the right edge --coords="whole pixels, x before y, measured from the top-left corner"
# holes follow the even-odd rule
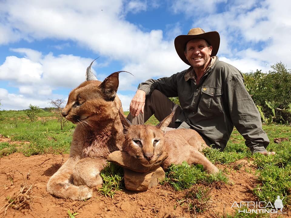
[[[272,70],[261,70],[244,75],[246,89],[255,104],[262,107],[265,117],[273,116],[273,121],[291,121],[291,71],[282,62],[271,66]],[[267,104],[267,103],[268,104]],[[270,107],[272,104],[272,108]],[[274,116],[276,112],[276,116]]]

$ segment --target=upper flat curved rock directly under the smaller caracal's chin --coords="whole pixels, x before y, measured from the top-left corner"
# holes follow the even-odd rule
[[[139,173],[145,173],[150,170],[158,168],[161,165],[161,163],[164,160],[166,160],[167,157],[168,154],[166,152],[163,152],[163,154],[158,158],[156,163],[154,163],[150,167],[143,166],[141,163],[139,163],[139,161],[136,158],[132,157],[125,151],[114,151],[108,155],[107,160],[123,168]]]

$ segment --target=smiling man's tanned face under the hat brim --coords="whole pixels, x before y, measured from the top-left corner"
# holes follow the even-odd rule
[[[186,45],[185,56],[193,68],[204,68],[208,64],[212,46],[208,47],[208,43],[204,39],[192,39]]]

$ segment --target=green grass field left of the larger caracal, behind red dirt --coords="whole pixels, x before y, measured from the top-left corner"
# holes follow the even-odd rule
[[[28,141],[19,146],[9,146],[9,149],[0,147],[0,155],[8,155],[15,151],[25,156],[35,154],[61,154],[69,153],[72,134],[75,125],[67,123],[64,130],[60,130],[60,124],[56,119],[41,117],[36,122],[30,122],[24,111],[1,111],[5,119],[0,121],[0,134],[11,138],[13,141]],[[51,115],[49,112],[42,112]],[[12,118],[13,116],[13,118]]]

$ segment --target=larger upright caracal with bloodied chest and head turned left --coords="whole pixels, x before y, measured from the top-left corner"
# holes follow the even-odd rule
[[[93,62],[92,62],[93,63]],[[90,188],[102,184],[100,171],[109,153],[120,150],[124,141],[119,118],[121,101],[116,95],[119,72],[103,82],[87,68],[86,81],[73,89],[62,115],[77,124],[69,159],[50,178],[47,191],[60,198],[83,200],[92,197]]]

